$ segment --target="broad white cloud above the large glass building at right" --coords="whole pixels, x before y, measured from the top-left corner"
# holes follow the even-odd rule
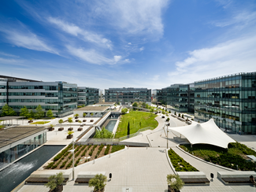
[[[255,45],[256,35],[193,50],[189,52],[190,57],[176,62],[176,68],[169,72],[169,78],[173,79],[173,82],[178,80],[179,83],[190,83],[237,72],[254,72]]]

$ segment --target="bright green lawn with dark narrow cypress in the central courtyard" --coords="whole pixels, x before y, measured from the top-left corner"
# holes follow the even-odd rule
[[[121,122],[117,127],[115,138],[121,138],[127,135],[128,122],[130,123],[130,134],[137,132],[144,127],[158,127],[158,121],[154,120],[157,115],[147,112],[130,111],[130,113],[121,116]]]

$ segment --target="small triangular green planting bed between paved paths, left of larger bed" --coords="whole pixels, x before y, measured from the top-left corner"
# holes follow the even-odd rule
[[[184,159],[175,153],[174,150],[169,149],[168,155],[176,172],[198,172],[196,168],[187,163],[187,161],[184,161]]]

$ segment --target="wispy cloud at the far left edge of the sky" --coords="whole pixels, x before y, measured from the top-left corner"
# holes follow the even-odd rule
[[[0,31],[2,31],[5,34],[6,39],[15,46],[24,47],[29,50],[39,50],[51,54],[58,54],[57,50],[48,46],[43,38],[28,31],[23,25],[17,24],[17,28],[9,28],[8,26],[2,25]]]

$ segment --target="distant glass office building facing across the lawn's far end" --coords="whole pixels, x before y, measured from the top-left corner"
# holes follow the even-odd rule
[[[109,88],[105,90],[105,102],[151,102],[151,90],[147,88]]]

